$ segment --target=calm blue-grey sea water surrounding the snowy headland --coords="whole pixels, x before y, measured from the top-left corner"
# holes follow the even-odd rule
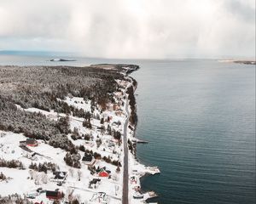
[[[0,55],[0,65],[135,63],[137,146],[161,173],[142,178],[160,204],[255,202],[255,66],[216,60],[142,61]]]

